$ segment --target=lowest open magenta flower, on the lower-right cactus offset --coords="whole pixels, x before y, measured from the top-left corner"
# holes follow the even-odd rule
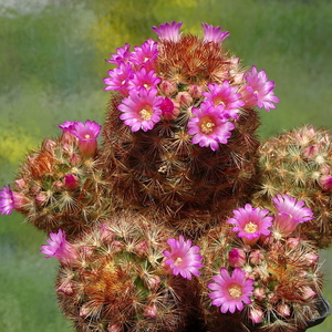
[[[229,276],[227,269],[221,268],[220,274],[214,276],[216,282],[208,284],[214,292],[209,293],[212,300],[212,305],[220,307],[220,311],[234,313],[237,310],[243,309],[243,303],[251,303],[250,297],[253,291],[253,280],[246,278],[246,272],[240,268],[235,268]]]

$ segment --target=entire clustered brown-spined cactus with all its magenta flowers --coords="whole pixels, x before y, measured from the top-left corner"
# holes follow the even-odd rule
[[[332,241],[331,136],[260,143],[274,83],[181,23],[117,49],[103,142],[59,125],[0,190],[50,234],[56,294],[79,332],[303,331],[320,315],[319,249]]]

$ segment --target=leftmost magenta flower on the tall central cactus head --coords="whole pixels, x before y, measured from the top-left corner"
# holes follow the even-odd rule
[[[108,86],[105,91],[115,90],[123,96],[127,96],[129,81],[134,77],[134,71],[129,63],[121,63],[120,68],[108,71],[111,77],[105,77],[104,83]]]

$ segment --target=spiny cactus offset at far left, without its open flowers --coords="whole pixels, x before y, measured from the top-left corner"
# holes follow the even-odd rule
[[[85,155],[69,131],[30,152],[14,189],[28,222],[45,232],[63,229],[69,237],[105,218],[114,205],[97,156]]]

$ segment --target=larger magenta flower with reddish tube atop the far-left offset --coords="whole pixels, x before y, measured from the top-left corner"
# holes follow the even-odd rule
[[[97,148],[97,137],[102,126],[94,121],[86,120],[85,124],[76,122],[71,133],[79,138],[79,147],[84,156],[91,157]]]

